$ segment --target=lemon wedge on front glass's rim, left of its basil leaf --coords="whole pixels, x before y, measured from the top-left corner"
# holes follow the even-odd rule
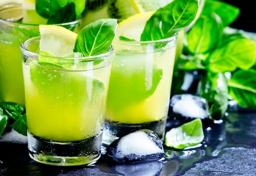
[[[40,50],[56,57],[73,53],[77,34],[61,26],[39,25]]]

